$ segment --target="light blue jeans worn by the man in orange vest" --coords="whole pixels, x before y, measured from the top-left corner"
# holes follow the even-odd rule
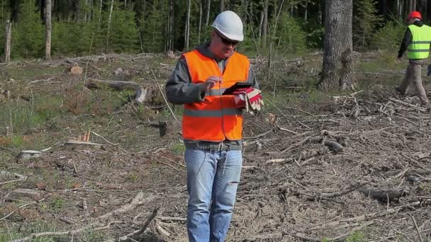
[[[189,241],[224,241],[240,182],[242,153],[187,148],[185,160]]]

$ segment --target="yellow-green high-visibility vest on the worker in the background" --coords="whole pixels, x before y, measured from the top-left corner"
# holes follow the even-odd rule
[[[430,55],[431,27],[409,25],[412,42],[408,45],[408,59],[426,59]]]

